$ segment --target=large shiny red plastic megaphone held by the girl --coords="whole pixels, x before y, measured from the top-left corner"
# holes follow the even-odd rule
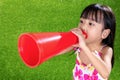
[[[23,62],[33,68],[77,42],[72,32],[24,33],[18,39],[18,50]]]

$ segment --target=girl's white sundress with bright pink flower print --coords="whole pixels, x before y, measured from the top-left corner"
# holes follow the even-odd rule
[[[100,74],[97,72],[97,70],[92,66],[92,64],[83,64],[78,57],[78,54],[80,53],[79,49],[75,52],[77,54],[76,57],[76,64],[73,69],[73,79],[74,80],[105,80],[100,76]],[[100,58],[100,53],[95,51],[97,57]]]

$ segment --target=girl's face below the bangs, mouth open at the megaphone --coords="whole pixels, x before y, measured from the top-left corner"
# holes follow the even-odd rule
[[[86,43],[102,41],[103,22],[96,22],[92,19],[80,18],[78,27],[87,33]]]

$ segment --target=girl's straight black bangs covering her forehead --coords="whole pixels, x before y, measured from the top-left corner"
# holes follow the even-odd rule
[[[103,22],[103,11],[97,5],[88,6],[83,10],[80,18],[90,19],[97,23],[101,23]]]

